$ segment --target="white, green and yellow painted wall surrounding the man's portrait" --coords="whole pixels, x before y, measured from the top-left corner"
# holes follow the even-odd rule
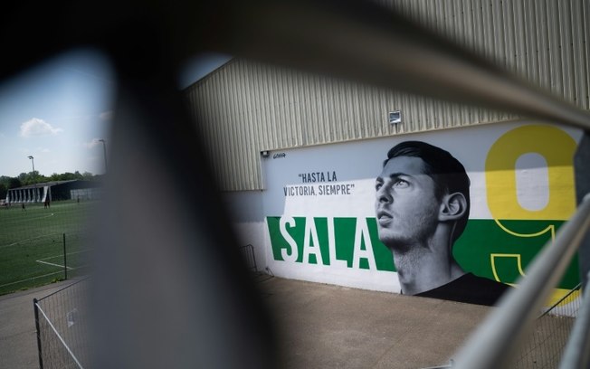
[[[263,191],[226,193],[225,200],[240,242],[254,246],[259,270],[399,292],[391,252],[375,236],[375,177],[390,147],[423,140],[449,150],[471,179],[475,228],[462,235],[454,256],[476,275],[514,283],[575,210],[572,160],[580,136],[572,128],[515,121],[278,150],[262,159]],[[577,281],[569,277],[553,299]]]

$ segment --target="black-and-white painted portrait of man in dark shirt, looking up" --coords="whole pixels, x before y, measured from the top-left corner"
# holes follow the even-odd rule
[[[448,151],[421,141],[392,147],[375,188],[379,240],[392,251],[404,295],[492,306],[510,288],[453,257],[469,218],[470,179]]]

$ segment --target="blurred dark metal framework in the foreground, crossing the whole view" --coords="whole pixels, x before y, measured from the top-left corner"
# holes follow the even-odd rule
[[[94,232],[96,367],[280,366],[271,311],[237,251],[198,122],[176,89],[179,66],[195,53],[225,52],[590,128],[586,111],[366,1],[14,3],[0,24],[2,80],[78,47],[105,52],[118,76],[113,159]],[[585,285],[588,152],[586,134],[576,155],[578,213],[453,367],[502,367],[578,249]],[[167,218],[143,211],[151,186],[131,185],[154,178],[161,192],[177,194],[159,204],[159,213],[173,214]],[[587,339],[571,341],[577,349],[566,360],[587,361],[580,354]]]

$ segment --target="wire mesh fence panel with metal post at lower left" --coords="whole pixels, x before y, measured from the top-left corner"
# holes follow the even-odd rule
[[[90,367],[89,283],[85,277],[33,299],[41,369]]]

